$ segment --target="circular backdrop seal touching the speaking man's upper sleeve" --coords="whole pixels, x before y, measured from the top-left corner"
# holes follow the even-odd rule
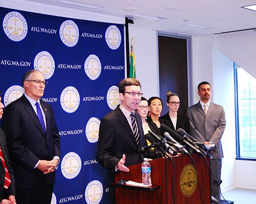
[[[89,142],[94,143],[99,139],[99,125],[100,120],[98,118],[90,118],[86,125],[86,137]]]

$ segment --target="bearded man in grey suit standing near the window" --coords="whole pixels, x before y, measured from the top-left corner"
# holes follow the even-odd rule
[[[191,135],[206,145],[215,145],[210,155],[210,166],[214,174],[214,178],[211,176],[211,196],[220,200],[218,184],[221,181],[221,165],[224,157],[221,138],[226,126],[225,112],[222,106],[210,102],[211,86],[208,82],[201,82],[198,85],[198,95],[200,101],[187,109]]]

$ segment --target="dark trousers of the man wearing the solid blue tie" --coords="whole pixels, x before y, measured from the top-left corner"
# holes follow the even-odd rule
[[[53,184],[46,180],[42,186],[34,188],[16,188],[16,203],[20,204],[51,204]]]

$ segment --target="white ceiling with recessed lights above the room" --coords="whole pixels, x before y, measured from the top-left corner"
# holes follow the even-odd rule
[[[31,1],[129,17],[134,20],[130,26],[181,35],[199,36],[256,28],[256,12],[241,8],[256,4],[256,0],[70,0],[98,6],[96,9],[63,4],[60,0]],[[127,12],[124,8],[138,10]],[[160,20],[134,15],[158,17]],[[186,26],[188,24],[210,28],[193,28]]]

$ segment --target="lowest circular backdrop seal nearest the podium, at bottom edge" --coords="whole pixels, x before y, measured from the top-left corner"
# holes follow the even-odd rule
[[[88,204],[98,204],[103,196],[102,184],[97,180],[90,182],[86,187],[84,195]]]

